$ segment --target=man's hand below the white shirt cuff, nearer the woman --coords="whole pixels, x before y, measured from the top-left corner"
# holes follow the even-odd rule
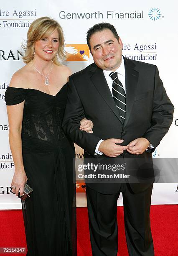
[[[120,156],[120,154],[122,154],[124,150],[128,148],[128,146],[116,145],[116,144],[122,143],[123,141],[124,140],[114,139],[114,138],[102,141],[98,150],[104,153],[106,156],[110,156],[110,157]]]

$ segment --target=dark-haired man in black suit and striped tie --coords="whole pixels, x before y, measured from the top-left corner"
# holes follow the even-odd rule
[[[69,77],[63,128],[87,158],[139,158],[152,154],[168,132],[173,105],[155,65],[122,56],[122,41],[109,23],[87,33],[94,62]],[[79,130],[93,121],[93,134]],[[153,183],[86,184],[94,256],[117,255],[117,199],[122,192],[130,256],[153,256],[150,199]]]

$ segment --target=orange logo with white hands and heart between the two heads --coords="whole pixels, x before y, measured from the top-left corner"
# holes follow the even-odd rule
[[[67,52],[66,61],[89,60],[89,47],[87,44],[66,44],[64,50]]]

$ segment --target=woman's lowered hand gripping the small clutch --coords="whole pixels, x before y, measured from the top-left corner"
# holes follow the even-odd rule
[[[11,187],[13,188],[13,193],[18,196],[20,191],[20,196],[23,195],[24,185],[27,182],[27,176],[24,169],[19,170],[14,173],[13,180],[11,183]]]

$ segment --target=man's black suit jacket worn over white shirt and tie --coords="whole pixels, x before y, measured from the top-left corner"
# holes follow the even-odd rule
[[[63,128],[72,141],[84,148],[85,157],[95,157],[94,151],[99,140],[108,138],[123,139],[122,145],[127,145],[136,138],[144,137],[155,149],[172,123],[174,107],[165,92],[158,68],[152,64],[125,58],[124,63],[124,125],[102,69],[93,63],[69,77]],[[84,117],[92,120],[93,134],[79,130],[80,120]],[[152,154],[145,151],[142,155],[134,156],[124,151],[119,157],[152,159]],[[115,193],[120,187],[120,184],[88,185],[106,194]],[[135,193],[149,186],[150,184],[130,184]]]

